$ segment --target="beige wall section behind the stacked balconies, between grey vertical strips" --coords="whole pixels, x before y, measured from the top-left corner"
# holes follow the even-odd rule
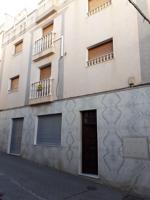
[[[50,55],[46,58],[40,59],[39,61],[35,62],[32,61],[31,65],[31,79],[30,83],[35,83],[40,80],[40,67],[50,64],[51,63],[51,78],[53,78],[53,100],[56,99],[56,87],[58,82],[58,62],[60,58],[60,48],[61,48],[61,40],[59,39],[61,36],[61,23],[62,23],[62,16],[57,15],[55,18],[49,17],[48,19],[41,22],[39,25],[36,25],[33,31],[33,41],[32,46],[34,46],[34,42],[43,37],[42,28],[45,27],[47,24],[53,21],[53,32],[55,33],[55,40],[54,43],[54,54]]]

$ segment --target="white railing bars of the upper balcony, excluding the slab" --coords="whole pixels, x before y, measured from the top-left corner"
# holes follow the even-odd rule
[[[33,55],[39,54],[46,49],[49,49],[54,46],[54,37],[55,33],[51,32],[42,38],[38,39],[34,43]]]

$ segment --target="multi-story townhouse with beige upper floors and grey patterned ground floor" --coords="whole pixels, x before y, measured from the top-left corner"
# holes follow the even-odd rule
[[[127,0],[41,1],[16,20],[2,32],[1,150],[150,195],[149,25]]]

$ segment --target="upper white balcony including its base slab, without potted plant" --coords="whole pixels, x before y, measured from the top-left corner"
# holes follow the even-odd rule
[[[33,48],[33,61],[38,61],[44,57],[52,55],[54,51],[55,33],[51,32],[39,40],[35,41]]]

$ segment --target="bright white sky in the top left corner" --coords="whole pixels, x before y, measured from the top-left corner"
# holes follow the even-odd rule
[[[24,8],[32,11],[40,0],[0,0],[0,24],[4,21],[4,13],[16,15]]]

